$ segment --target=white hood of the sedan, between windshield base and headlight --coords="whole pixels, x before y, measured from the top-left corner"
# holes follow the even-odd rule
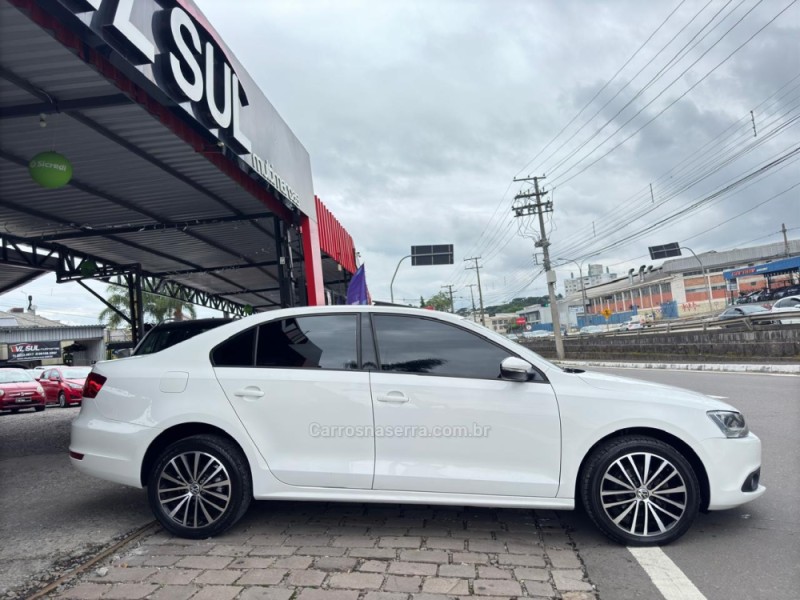
[[[643,402],[664,402],[703,410],[736,410],[730,404],[710,398],[705,394],[671,385],[594,371],[585,371],[577,374],[576,377],[594,388],[616,392],[621,397],[638,398]]]

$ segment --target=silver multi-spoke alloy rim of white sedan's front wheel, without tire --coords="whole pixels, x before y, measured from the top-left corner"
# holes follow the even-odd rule
[[[613,461],[600,484],[603,511],[627,534],[648,538],[675,527],[688,504],[686,482],[669,460],[631,452]]]

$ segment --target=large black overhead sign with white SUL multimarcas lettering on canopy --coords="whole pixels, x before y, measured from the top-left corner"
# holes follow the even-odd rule
[[[214,35],[176,0],[68,0],[64,5],[100,33],[131,64],[190,113],[295,206],[299,194],[268,160],[257,156],[242,130],[249,105],[239,76]],[[162,7],[162,5],[164,7]]]

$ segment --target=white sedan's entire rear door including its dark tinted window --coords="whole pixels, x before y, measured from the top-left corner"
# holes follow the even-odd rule
[[[369,489],[369,374],[356,315],[266,322],[214,349],[217,379],[272,473],[289,485]]]

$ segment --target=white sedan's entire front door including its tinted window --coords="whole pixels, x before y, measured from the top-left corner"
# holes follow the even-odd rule
[[[554,497],[558,404],[537,381],[502,379],[514,354],[434,319],[375,315],[375,489]]]

